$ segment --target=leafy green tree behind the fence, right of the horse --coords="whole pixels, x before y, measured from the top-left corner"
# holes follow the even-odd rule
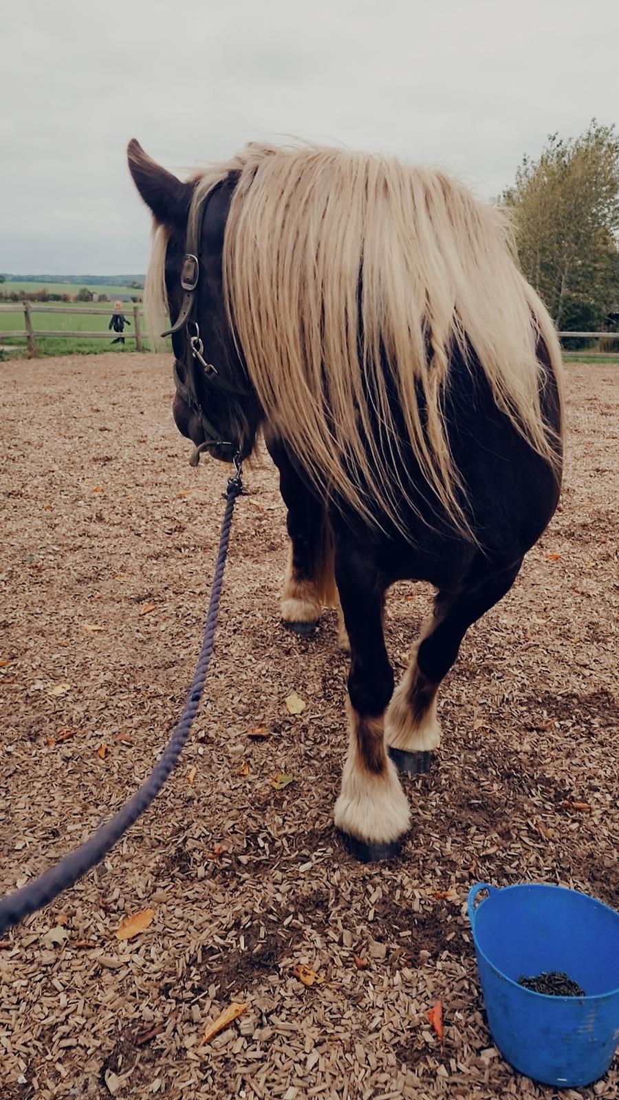
[[[522,271],[562,330],[596,330],[619,299],[619,135],[594,119],[549,138],[502,195]]]

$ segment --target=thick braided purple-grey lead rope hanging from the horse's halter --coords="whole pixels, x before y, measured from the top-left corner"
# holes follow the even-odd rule
[[[77,880],[86,873],[86,871],[89,871],[93,867],[100,862],[116,842],[120,839],[122,834],[126,833],[127,829],[133,825],[134,822],[137,822],[140,814],[142,814],[144,810],[150,806],[151,802],[153,802],[161,791],[172,769],[175,767],[185,741],[187,740],[194,718],[197,714],[204,691],[206,674],[208,672],[208,666],[210,663],[215,630],[217,627],[217,615],[219,612],[219,600],[221,596],[221,585],[224,583],[224,569],[226,565],[226,556],[228,553],[228,540],[230,537],[232,512],[236,498],[241,492],[242,483],[240,474],[237,474],[236,477],[230,477],[228,481],[226,510],[221,521],[217,564],[215,566],[215,575],[213,578],[213,587],[210,591],[210,601],[208,604],[208,613],[204,630],[204,641],[196,666],[196,671],[194,673],[194,680],[192,686],[189,688],[183,714],[181,715],[176,728],[174,729],[165,749],[155,763],[149,778],[144,780],[142,785],[135,791],[135,794],[132,795],[129,802],[127,802],[109,822],[101,825],[101,827],[97,829],[97,832],[89,837],[88,840],[80,845],[79,848],[76,848],[75,851],[70,851],[67,856],[64,856],[58,864],[55,864],[54,867],[44,871],[43,875],[34,880],[34,882],[30,882],[28,886],[22,887],[21,890],[15,890],[13,893],[0,901],[0,935],[2,935],[7,928],[10,928],[12,925],[19,924],[19,922],[22,921],[24,916],[28,916],[29,913],[34,913],[35,910],[41,909],[43,905],[53,901],[54,898],[57,898],[57,895],[63,892],[63,890],[67,890],[69,887],[74,886]]]

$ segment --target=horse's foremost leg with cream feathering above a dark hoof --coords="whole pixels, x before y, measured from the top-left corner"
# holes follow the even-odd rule
[[[350,639],[349,743],[334,818],[349,850],[363,861],[388,859],[410,824],[409,803],[385,752],[384,711],[393,671],[384,647],[384,584],[359,546],[336,544],[336,580]]]

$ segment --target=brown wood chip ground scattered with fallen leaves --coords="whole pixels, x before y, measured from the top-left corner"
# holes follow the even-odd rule
[[[187,465],[164,358],[0,370],[8,891],[95,829],[165,744],[200,645],[226,471]],[[280,625],[284,509],[270,464],[247,471],[181,766],[105,862],[0,946],[3,1100],[555,1096],[492,1046],[465,899],[476,880],[528,879],[618,904],[618,391],[612,365],[567,367],[561,509],[464,642],[439,759],[405,780],[413,827],[389,865],[359,866],[334,833],[347,660],[333,612],[311,640]],[[398,670],[430,597],[419,584],[389,597]],[[268,736],[248,737],[261,724]],[[294,782],[275,790],[275,772]],[[146,909],[150,926],[119,942]],[[304,987],[297,964],[324,980]],[[199,1046],[234,999],[249,1008]],[[618,1093],[616,1063],[561,1096]]]

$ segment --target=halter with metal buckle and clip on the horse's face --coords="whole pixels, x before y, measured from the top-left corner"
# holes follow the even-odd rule
[[[185,405],[197,416],[204,435],[205,442],[196,447],[189,459],[189,465],[197,466],[203,451],[209,447],[235,447],[236,457],[239,455],[240,446],[238,440],[232,443],[230,440],[219,438],[217,428],[210,422],[200,405],[198,376],[202,373],[208,378],[209,386],[216,386],[236,397],[247,397],[248,392],[235,383],[222,377],[217,367],[209,363],[204,354],[204,343],[199,332],[199,326],[195,319],[196,311],[196,287],[199,279],[199,241],[202,237],[202,224],[208,206],[208,200],[213,191],[208,195],[204,206],[196,211],[194,218],[189,217],[187,234],[185,238],[185,256],[181,267],[181,286],[183,288],[183,302],[174,324],[162,337],[170,337],[174,332],[185,329],[184,359],[175,359],[172,367],[172,376],[176,393]],[[183,367],[183,378],[180,367]]]

